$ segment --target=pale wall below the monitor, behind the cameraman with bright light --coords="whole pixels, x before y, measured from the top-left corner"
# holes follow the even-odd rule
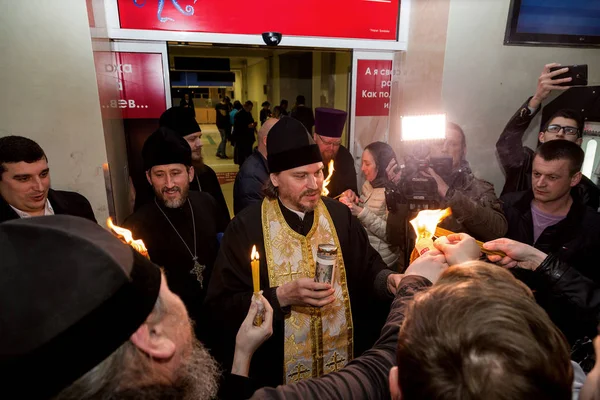
[[[467,135],[467,159],[497,193],[504,176],[496,140],[518,107],[534,94],[543,66],[587,63],[590,84],[600,84],[598,49],[504,46],[509,5],[510,0],[451,0],[442,86],[449,118]],[[533,148],[539,118],[526,137]]]

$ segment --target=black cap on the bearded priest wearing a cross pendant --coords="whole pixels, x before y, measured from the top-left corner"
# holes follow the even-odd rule
[[[192,149],[184,138],[168,128],[158,128],[144,142],[142,147],[144,171],[156,165],[192,165]]]

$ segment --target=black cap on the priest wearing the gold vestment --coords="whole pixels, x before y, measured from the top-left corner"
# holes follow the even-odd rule
[[[277,173],[323,161],[319,146],[304,125],[294,118],[281,118],[267,136],[269,171]]]

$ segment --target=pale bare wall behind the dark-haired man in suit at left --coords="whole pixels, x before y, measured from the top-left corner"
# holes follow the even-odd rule
[[[103,221],[107,157],[85,2],[4,2],[0,54],[0,136],[37,141],[52,187],[83,194]]]

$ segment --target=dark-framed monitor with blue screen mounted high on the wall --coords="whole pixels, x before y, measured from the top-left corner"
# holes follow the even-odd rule
[[[600,0],[511,0],[504,44],[600,46]]]

